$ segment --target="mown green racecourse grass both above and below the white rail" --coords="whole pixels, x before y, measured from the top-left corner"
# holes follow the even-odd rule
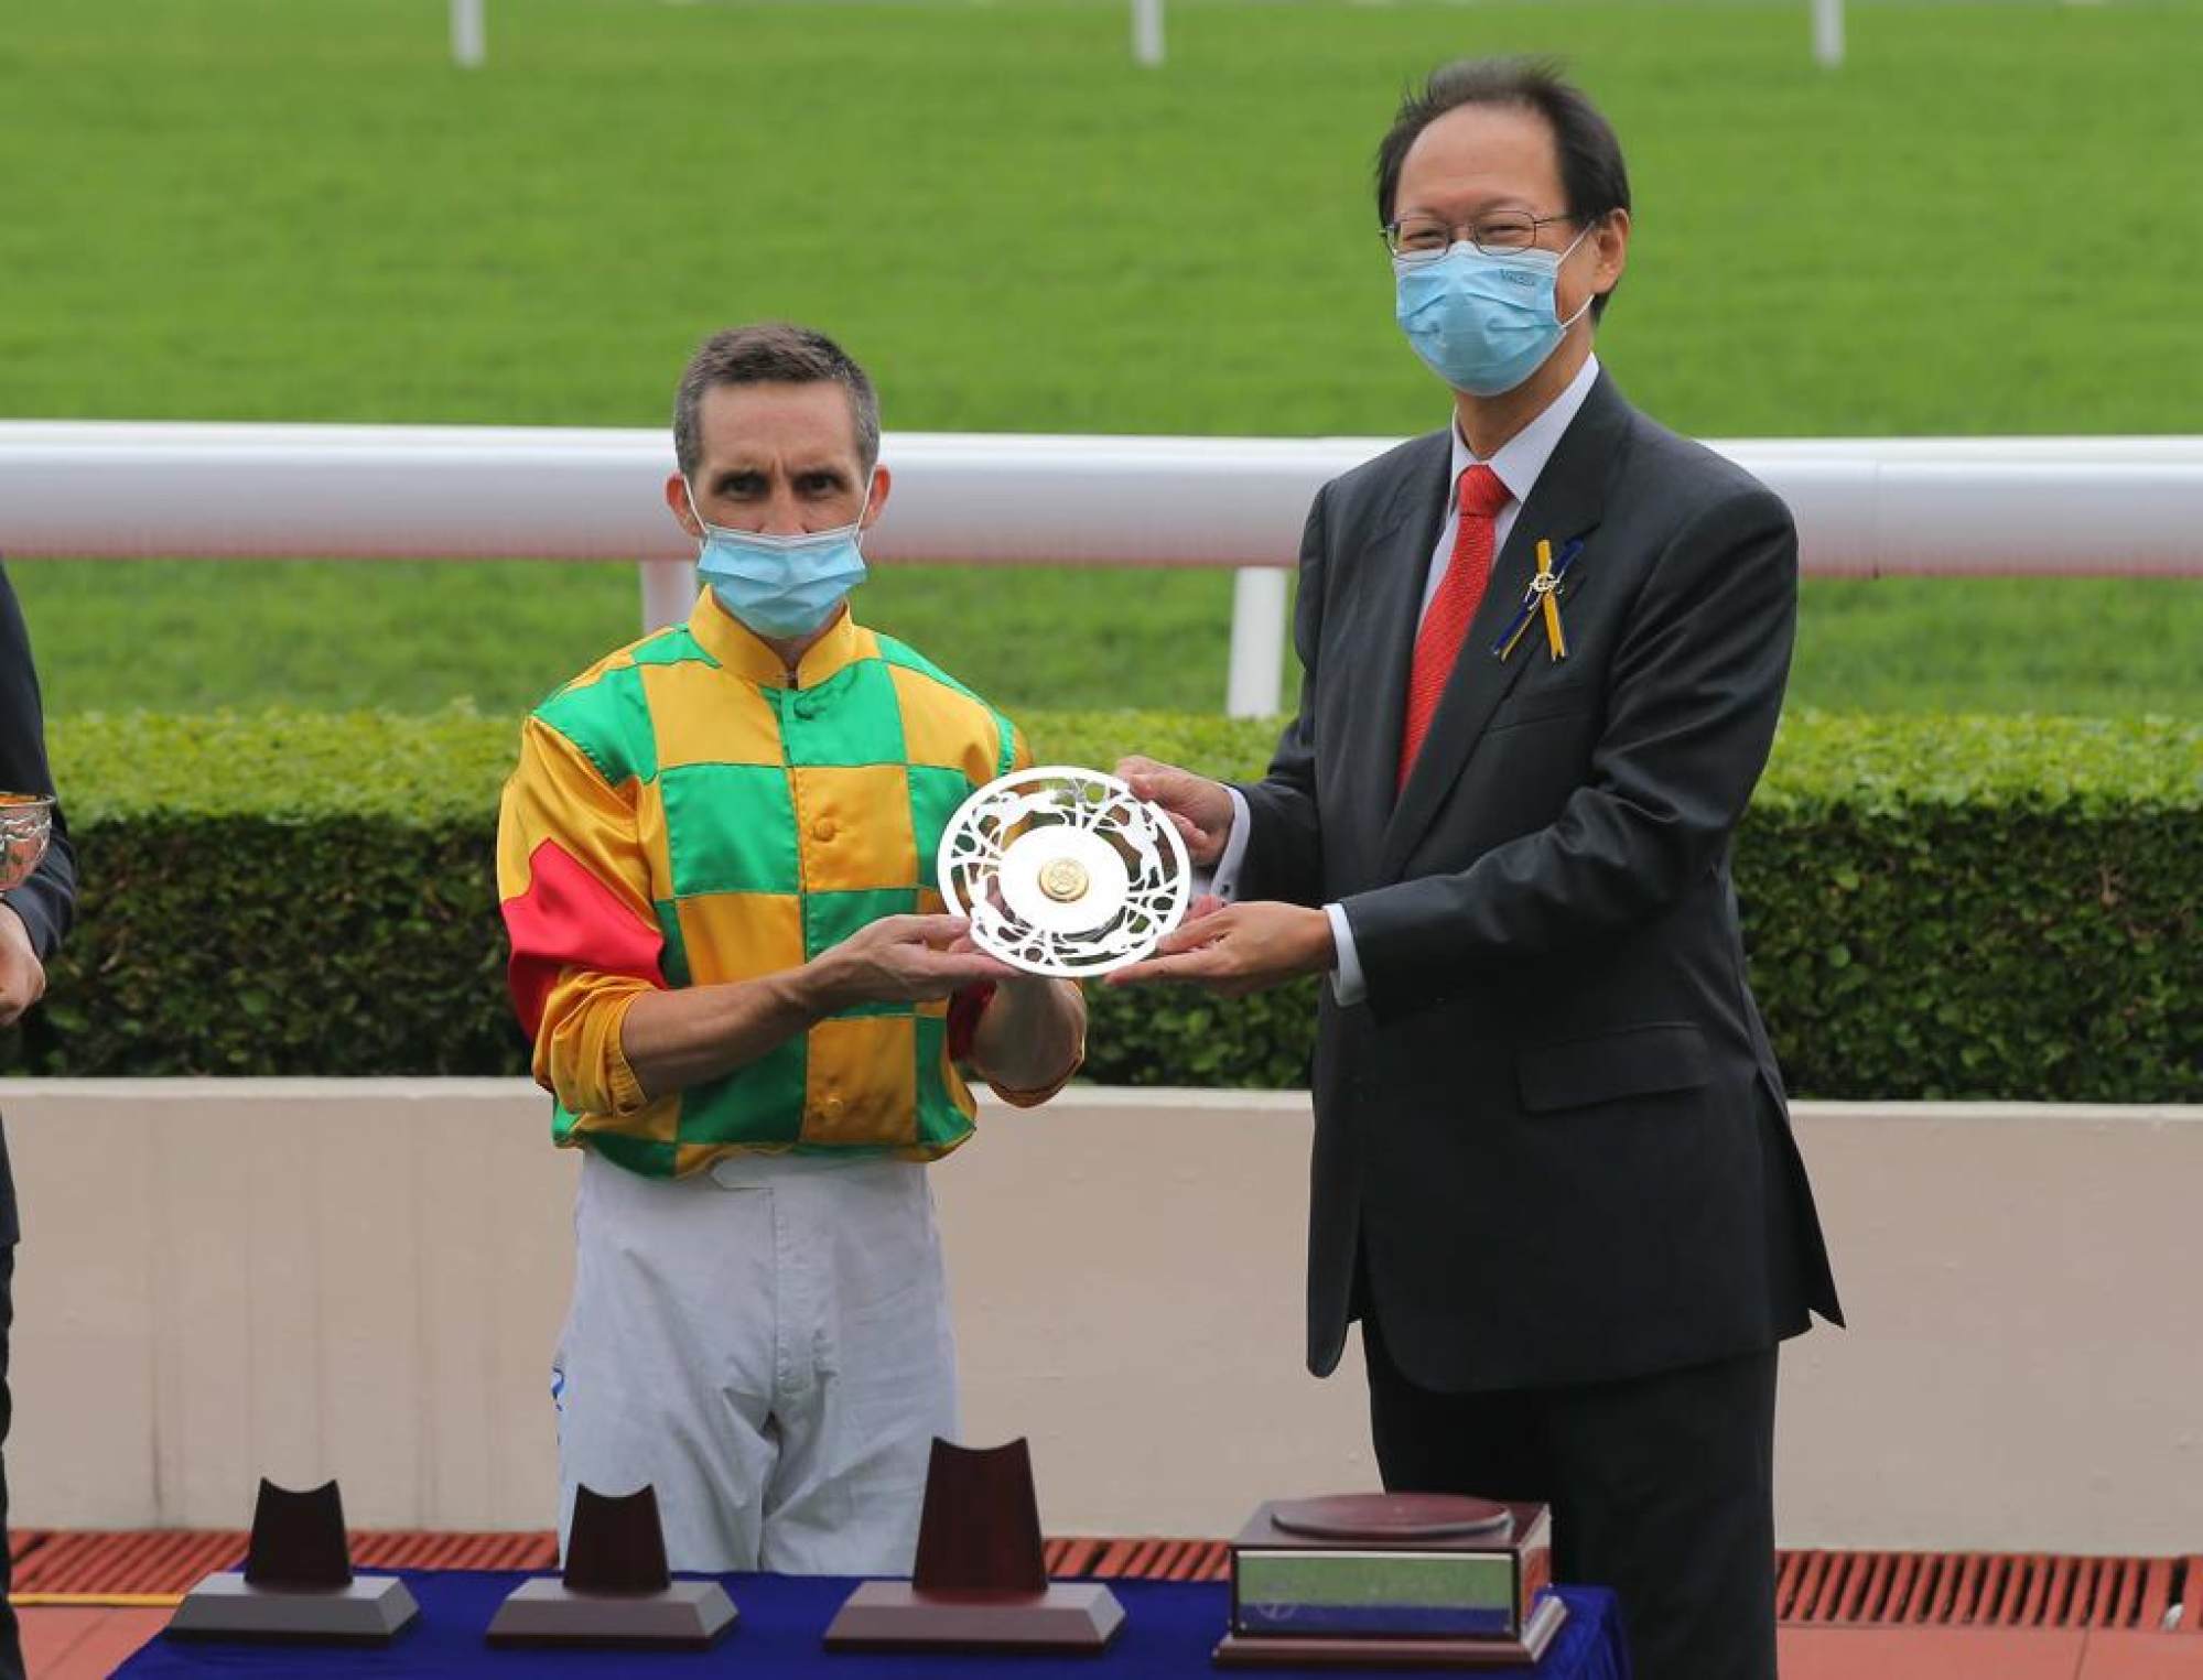
[[[1366,161],[1401,84],[1551,51],[1630,150],[1602,328],[1707,436],[2194,432],[2203,4],[104,0],[0,35],[0,414],[656,425],[731,319],[901,429],[1406,434]],[[4,544],[4,511],[0,511]],[[533,700],[623,568],[15,564],[57,709]],[[1229,583],[890,572],[1005,705],[1214,707]],[[1813,583],[1795,698],[2196,711],[2203,586]]]

